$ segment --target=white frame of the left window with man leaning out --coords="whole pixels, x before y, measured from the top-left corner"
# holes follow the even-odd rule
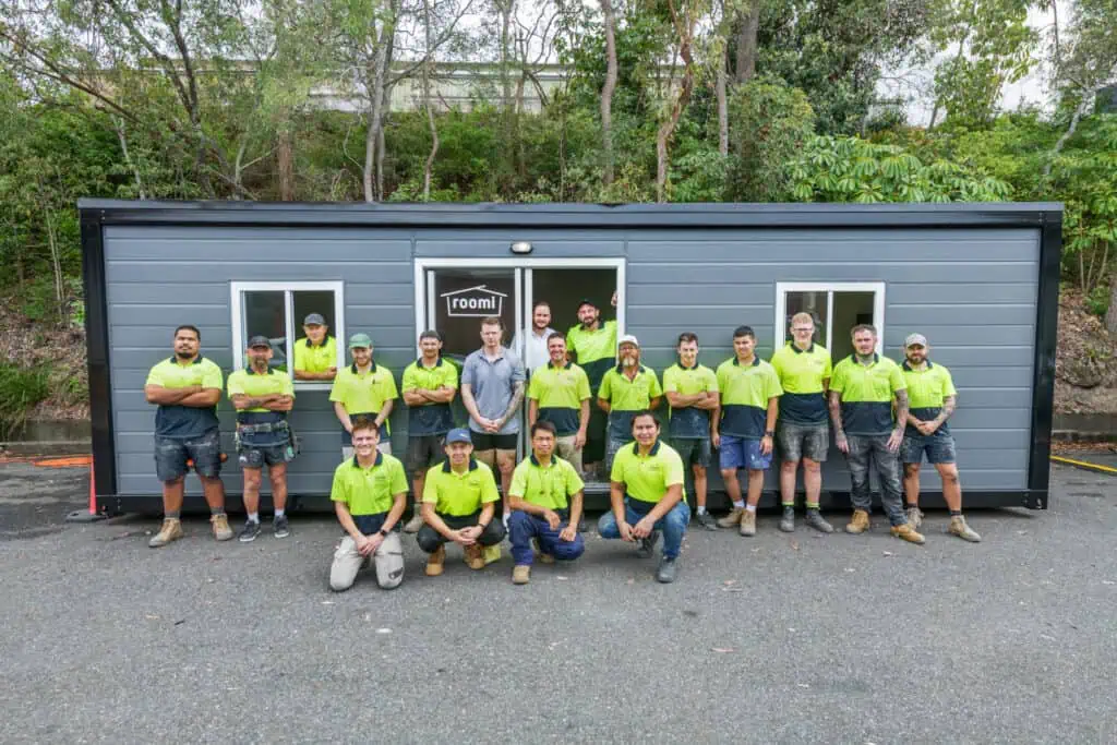
[[[232,308],[232,367],[241,370],[245,366],[245,345],[248,340],[244,335],[245,326],[245,293],[283,293],[284,324],[287,329],[287,373],[292,376],[295,388],[300,391],[328,391],[333,383],[319,381],[295,380],[295,340],[302,324],[295,319],[295,298],[293,293],[332,292],[334,294],[334,323],[330,333],[337,340],[337,367],[345,364],[345,283],[344,281],[232,281],[229,283],[229,307]]]

